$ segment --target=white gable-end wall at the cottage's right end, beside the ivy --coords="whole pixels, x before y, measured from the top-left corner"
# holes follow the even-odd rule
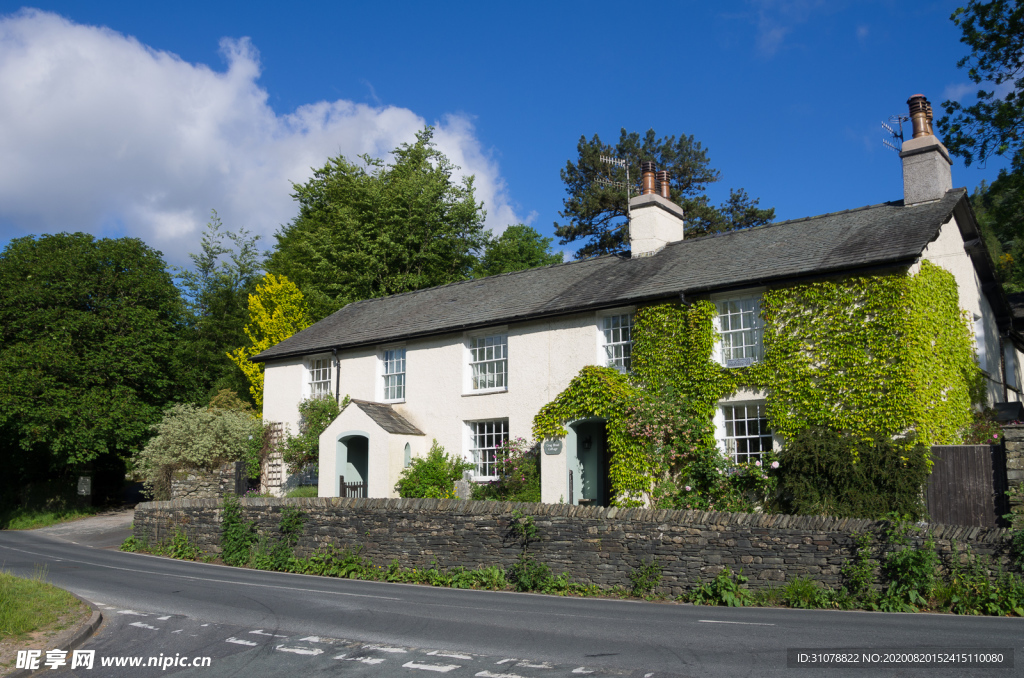
[[[911,208],[912,209],[912,208]],[[979,352],[984,350],[988,379],[989,404],[1002,400],[1002,382],[1000,377],[999,330],[995,323],[995,313],[981,289],[981,281],[974,269],[971,257],[964,250],[964,238],[961,236],[956,219],[950,217],[942,225],[939,237],[928,244],[921,255],[922,259],[942,266],[956,280],[959,292],[961,308],[968,311],[972,319],[981,316],[984,326],[984,346],[979,346]],[[913,266],[911,272],[918,272],[919,266]],[[973,326],[972,326],[973,331]]]

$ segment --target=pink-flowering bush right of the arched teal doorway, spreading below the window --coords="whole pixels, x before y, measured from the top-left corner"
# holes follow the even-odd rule
[[[715,427],[671,390],[644,393],[627,408],[627,433],[641,440],[650,464],[650,504],[656,508],[753,511],[774,496],[778,462],[735,464],[719,451]]]

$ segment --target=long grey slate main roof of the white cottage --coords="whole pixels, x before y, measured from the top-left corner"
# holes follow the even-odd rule
[[[910,263],[954,209],[970,210],[966,195],[965,188],[954,188],[930,203],[883,203],[684,239],[653,256],[608,255],[357,301],[252,359]]]

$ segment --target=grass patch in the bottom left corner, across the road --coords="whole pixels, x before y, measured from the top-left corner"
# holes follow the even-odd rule
[[[22,638],[56,624],[69,612],[85,611],[78,598],[44,579],[45,570],[32,579],[0,571],[0,640]]]

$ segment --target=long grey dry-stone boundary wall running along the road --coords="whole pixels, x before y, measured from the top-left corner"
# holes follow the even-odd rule
[[[853,546],[853,534],[881,534],[883,523],[851,518],[657,511],[647,509],[467,502],[438,499],[266,499],[241,500],[245,520],[274,534],[281,508],[307,514],[296,555],[308,556],[334,544],[361,548],[375,564],[392,559],[408,567],[512,565],[519,546],[511,536],[512,512],[532,516],[538,541],[529,553],[555,574],[601,586],[629,586],[634,567],[652,558],[664,566],[660,592],[678,595],[709,582],[728,565],[742,569],[760,588],[810,576],[828,586]],[[1007,562],[1010,531],[929,525],[936,548],[948,555],[963,549]],[[209,553],[220,551],[220,508],[212,499],[147,502],[135,508],[135,536],[159,543],[183,529]],[[918,539],[920,542],[921,540]]]

